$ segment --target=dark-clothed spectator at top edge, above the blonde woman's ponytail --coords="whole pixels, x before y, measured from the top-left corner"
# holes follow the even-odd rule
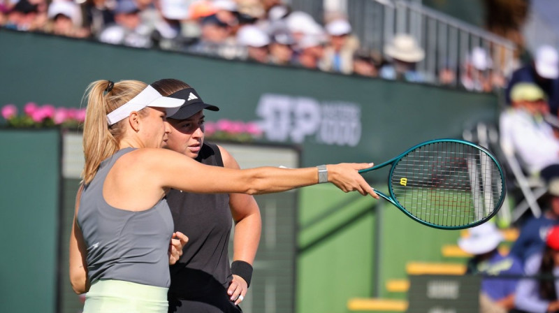
[[[83,5],[85,26],[94,36],[101,34],[105,27],[115,23],[113,10],[116,5],[116,1],[112,0],[85,1]]]

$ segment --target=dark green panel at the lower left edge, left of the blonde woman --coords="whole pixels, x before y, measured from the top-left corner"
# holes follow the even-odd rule
[[[0,306],[57,312],[60,136],[0,131]]]

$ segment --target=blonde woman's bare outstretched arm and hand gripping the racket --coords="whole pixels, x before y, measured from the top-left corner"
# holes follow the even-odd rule
[[[189,157],[166,149],[145,150],[147,173],[162,173],[153,177],[161,187],[170,187],[196,193],[267,194],[310,186],[318,182],[317,168],[260,167],[238,170],[206,166]],[[139,156],[141,157],[141,156]],[[165,161],[162,161],[165,160]],[[328,182],[342,191],[378,198],[358,170],[369,168],[370,163],[340,163],[328,165]],[[183,175],[177,175],[184,173]],[[155,176],[155,175],[153,175]]]

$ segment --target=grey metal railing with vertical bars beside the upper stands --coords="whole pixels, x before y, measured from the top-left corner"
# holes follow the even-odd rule
[[[347,3],[347,16],[362,48],[382,53],[395,34],[412,35],[425,51],[425,59],[416,69],[434,78],[443,67],[460,73],[476,47],[491,57],[493,71],[506,77],[513,70],[514,43],[421,3],[351,0]]]

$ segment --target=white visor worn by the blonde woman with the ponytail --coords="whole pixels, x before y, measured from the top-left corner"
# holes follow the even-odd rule
[[[129,117],[131,112],[142,110],[148,106],[166,108],[167,116],[170,116],[175,114],[183,103],[184,99],[161,96],[154,87],[147,85],[137,96],[110,112],[107,115],[107,122],[109,125],[115,124]]]

